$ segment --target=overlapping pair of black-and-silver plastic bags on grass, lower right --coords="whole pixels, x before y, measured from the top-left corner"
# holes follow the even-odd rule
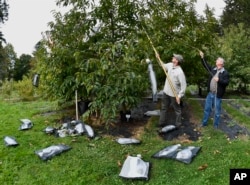
[[[171,145],[155,153],[153,158],[170,158],[189,164],[197,155],[201,147],[181,146],[181,144]]]

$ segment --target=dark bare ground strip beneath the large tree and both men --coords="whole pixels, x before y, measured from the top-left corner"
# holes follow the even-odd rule
[[[201,106],[204,107],[204,99],[197,98]],[[160,100],[158,102],[153,102],[150,98],[144,98],[138,107],[131,110],[131,118],[127,119],[125,114],[120,114],[117,120],[105,125],[92,125],[93,129],[97,134],[109,135],[112,137],[124,137],[124,138],[138,138],[143,132],[144,128],[147,127],[147,123],[150,116],[146,116],[147,111],[154,111],[159,109]],[[159,136],[164,140],[178,140],[182,143],[189,143],[191,141],[196,141],[202,136],[202,130],[198,128],[201,120],[197,120],[194,116],[195,110],[186,102],[182,104],[182,125],[173,131],[167,133],[161,133]],[[211,118],[213,113],[211,114]],[[175,113],[173,109],[168,111],[168,123],[166,125],[174,125],[175,123]],[[156,130],[160,127],[155,125]],[[156,132],[155,130],[155,132]],[[219,125],[219,130],[223,131],[229,139],[235,139],[241,135],[249,136],[250,132],[247,128],[244,128],[234,120],[229,117],[229,115],[222,110],[221,121]]]

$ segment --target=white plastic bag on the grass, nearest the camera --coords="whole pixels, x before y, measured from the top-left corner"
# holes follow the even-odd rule
[[[149,167],[149,162],[143,161],[140,157],[128,156],[119,176],[126,179],[148,180]]]

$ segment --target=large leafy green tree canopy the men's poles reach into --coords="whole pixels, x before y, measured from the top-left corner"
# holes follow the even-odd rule
[[[54,12],[36,53],[46,92],[68,100],[77,90],[91,101],[89,113],[105,121],[137,106],[150,87],[146,58],[154,62],[159,88],[166,78],[146,33],[163,61],[182,54],[188,82],[201,83],[198,50],[215,45],[219,24],[209,9],[199,17],[194,2],[58,0],[71,8],[65,15]]]

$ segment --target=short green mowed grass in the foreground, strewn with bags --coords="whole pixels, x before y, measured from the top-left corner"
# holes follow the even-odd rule
[[[203,108],[196,100],[187,100],[194,119],[200,120]],[[139,138],[140,145],[120,145],[111,136],[89,139],[87,136],[57,138],[46,135],[43,129],[58,124],[64,112],[41,114],[54,111],[54,102],[0,102],[0,184],[24,185],[228,185],[232,168],[250,168],[249,137],[242,136],[228,140],[220,130],[214,130],[212,124],[202,130],[202,137],[193,143],[164,141],[157,132],[158,117],[152,117],[144,127]],[[234,112],[237,112],[235,110]],[[240,113],[239,113],[240,115]],[[239,116],[240,117],[240,116]],[[30,119],[34,126],[30,130],[20,131],[20,119]],[[238,120],[239,121],[239,120]],[[249,126],[249,122],[244,123]],[[4,136],[13,136],[19,145],[7,147]],[[162,148],[180,143],[183,146],[199,146],[200,152],[190,164],[172,159],[155,159],[151,156]],[[65,144],[71,150],[42,161],[36,154],[40,150],[55,144]],[[127,155],[142,155],[150,162],[149,180],[130,180],[119,177],[121,166]]]

